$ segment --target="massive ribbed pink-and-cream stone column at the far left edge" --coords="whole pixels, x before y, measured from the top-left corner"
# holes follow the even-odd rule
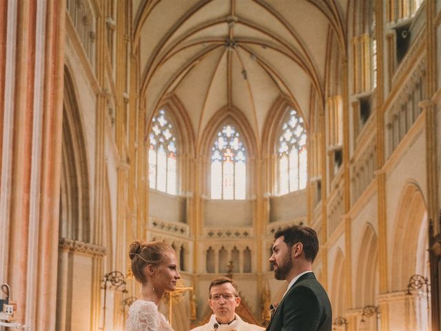
[[[65,1],[1,1],[0,17],[0,283],[19,323],[54,330]]]

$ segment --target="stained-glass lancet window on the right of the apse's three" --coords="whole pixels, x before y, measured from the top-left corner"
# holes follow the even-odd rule
[[[296,110],[289,110],[278,141],[279,192],[287,194],[306,188],[307,150],[303,119]]]

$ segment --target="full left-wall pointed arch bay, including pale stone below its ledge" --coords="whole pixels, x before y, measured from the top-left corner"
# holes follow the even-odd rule
[[[71,72],[66,65],[61,134],[57,330],[70,330],[72,323],[80,329],[90,324],[93,314],[92,269],[85,265],[91,265],[94,254],[104,254],[101,247],[91,243],[88,144],[76,97],[79,94]],[[80,310],[75,303],[79,301],[84,305],[78,322]]]

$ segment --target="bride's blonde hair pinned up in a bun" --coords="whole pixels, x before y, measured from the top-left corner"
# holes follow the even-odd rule
[[[134,241],[130,244],[129,257],[132,260],[132,272],[137,281],[147,283],[144,268],[151,265],[159,265],[164,258],[165,253],[174,250],[168,243],[162,241],[152,241],[145,243],[143,241]]]

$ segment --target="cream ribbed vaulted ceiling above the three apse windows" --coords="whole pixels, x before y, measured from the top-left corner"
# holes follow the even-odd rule
[[[329,33],[345,43],[347,0],[134,0],[132,6],[147,112],[174,94],[196,139],[225,108],[242,112],[260,139],[280,97],[308,121],[311,89],[324,95]]]

